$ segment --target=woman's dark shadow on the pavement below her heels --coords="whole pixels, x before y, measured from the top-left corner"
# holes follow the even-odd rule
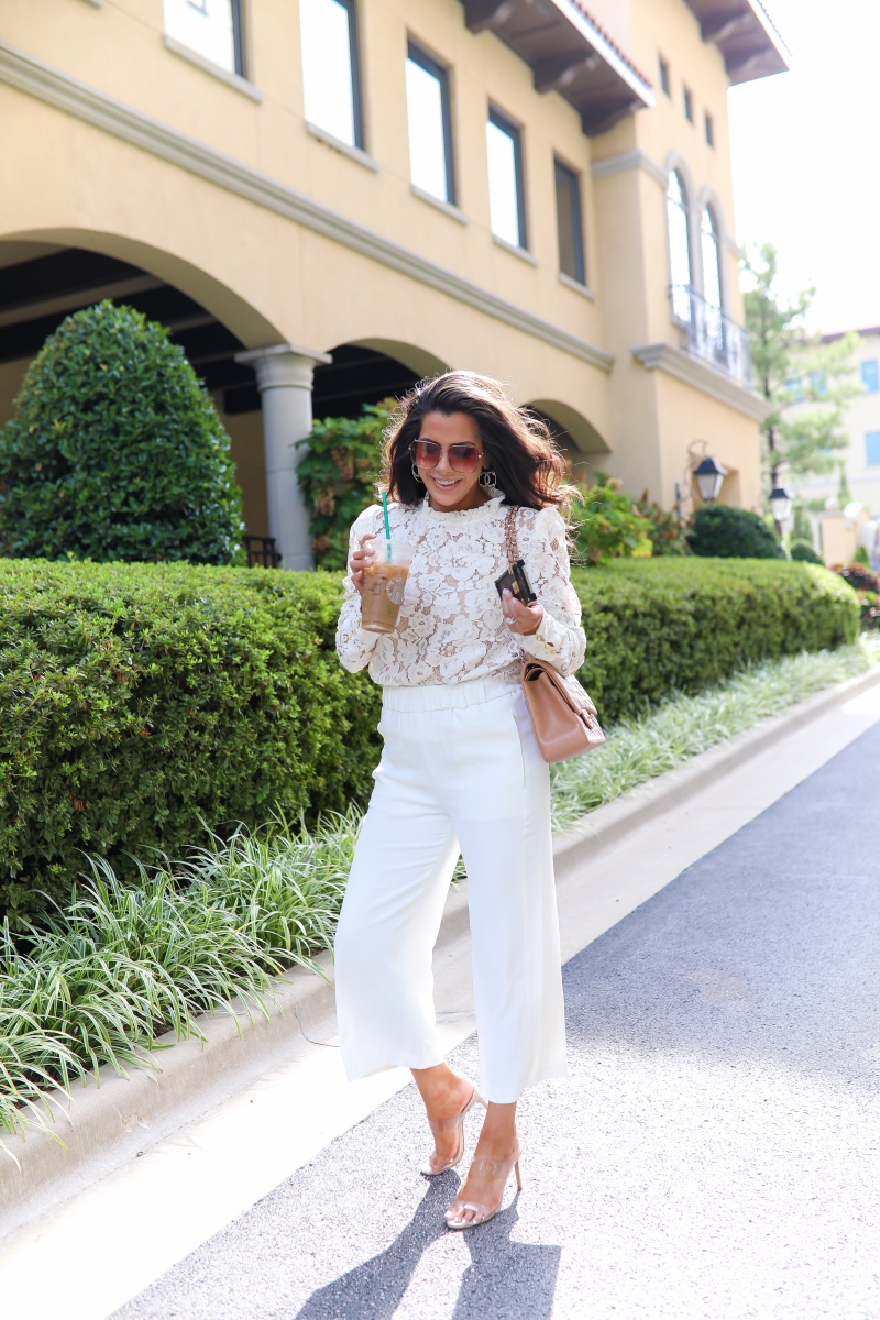
[[[296,1320],[392,1320],[424,1253],[449,1232],[443,1210],[458,1185],[435,1179],[391,1246],[313,1292]],[[491,1224],[462,1234],[471,1263],[453,1320],[549,1320],[562,1249],[511,1242],[516,1221],[515,1200]]]

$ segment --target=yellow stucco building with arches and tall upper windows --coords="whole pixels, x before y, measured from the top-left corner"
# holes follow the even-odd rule
[[[727,87],[760,0],[4,0],[0,421],[69,312],[140,308],[309,564],[294,441],[464,367],[670,507],[760,506]]]

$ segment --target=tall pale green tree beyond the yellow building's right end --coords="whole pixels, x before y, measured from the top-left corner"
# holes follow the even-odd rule
[[[745,261],[753,288],[744,294],[752,368],[759,393],[773,411],[761,424],[768,491],[792,477],[827,473],[850,441],[843,428],[850,399],[862,393],[854,379],[856,334],[822,343],[807,334],[805,318],[815,289],[786,302],[776,288],[777,252],[765,243]],[[806,405],[806,407],[805,407]]]

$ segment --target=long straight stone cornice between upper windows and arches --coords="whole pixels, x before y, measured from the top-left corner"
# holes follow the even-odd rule
[[[554,348],[579,358],[600,371],[611,371],[613,366],[613,356],[587,339],[534,315],[515,302],[508,302],[507,298],[463,279],[454,271],[447,271],[418,252],[376,234],[356,220],[350,220],[338,211],[322,206],[321,202],[315,202],[267,174],[206,147],[186,133],[142,114],[142,111],[125,106],[113,96],[90,87],[78,78],[73,78],[63,70],[37,59],[36,55],[18,50],[5,41],[0,41],[0,82],[28,92],[69,115],[75,115],[78,119],[94,124],[96,128],[102,128],[161,160],[178,165],[218,187],[247,198],[247,201],[264,206],[267,210],[276,211],[278,215],[332,239],[361,256],[380,261],[392,271],[418,280],[450,298],[532,335],[534,339],[542,339]]]

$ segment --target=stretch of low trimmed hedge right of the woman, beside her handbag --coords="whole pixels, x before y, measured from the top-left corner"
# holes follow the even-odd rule
[[[834,649],[859,634],[855,591],[813,564],[664,557],[573,577],[587,634],[578,677],[610,722],[751,661]]]

